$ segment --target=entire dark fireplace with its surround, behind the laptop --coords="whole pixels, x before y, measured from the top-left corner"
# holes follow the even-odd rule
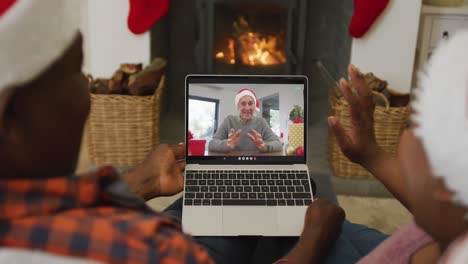
[[[169,13],[151,29],[151,56],[168,60],[162,122],[168,127],[180,125],[166,135],[163,129],[162,137],[184,138],[187,74],[306,75],[309,121],[322,120],[327,115],[329,87],[322,81],[316,62],[322,61],[335,78],[345,76],[351,50],[348,23],[352,5],[353,1],[342,0],[171,0]],[[236,51],[249,48],[242,47],[238,39],[243,39],[242,32],[250,31],[250,46],[273,46],[261,51],[281,52],[286,60],[274,55],[276,61],[269,62],[260,53],[250,60],[247,55],[248,63],[242,61]],[[230,39],[234,40],[233,48],[229,47]],[[220,52],[223,55],[218,55]],[[231,63],[232,58],[235,63]],[[269,64],[259,64],[262,60]]]

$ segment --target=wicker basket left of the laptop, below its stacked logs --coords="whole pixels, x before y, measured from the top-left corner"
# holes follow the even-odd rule
[[[150,96],[91,94],[86,134],[94,165],[134,166],[159,143],[164,80]]]

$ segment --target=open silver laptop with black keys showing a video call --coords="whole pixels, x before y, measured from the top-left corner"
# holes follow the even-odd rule
[[[305,147],[307,90],[305,76],[186,77],[185,232],[300,235],[313,201]],[[251,108],[242,108],[246,105]],[[302,124],[294,111],[303,111]],[[235,134],[240,129],[234,147],[226,147],[230,126],[237,126]]]

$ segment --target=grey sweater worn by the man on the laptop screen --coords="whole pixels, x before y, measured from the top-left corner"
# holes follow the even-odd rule
[[[208,149],[214,152],[229,152],[227,139],[231,128],[237,132],[241,129],[241,135],[236,147],[232,151],[259,151],[252,140],[247,137],[247,133],[254,135],[252,129],[255,129],[265,142],[266,150],[264,152],[277,152],[282,150],[281,142],[275,133],[271,130],[268,123],[263,118],[254,117],[252,120],[244,122],[239,116],[229,115],[226,117],[216,131],[213,139],[208,144]]]

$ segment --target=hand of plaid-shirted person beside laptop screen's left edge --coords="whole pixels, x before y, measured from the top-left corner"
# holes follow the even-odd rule
[[[123,177],[136,194],[149,200],[170,196],[184,189],[185,145],[161,144],[143,163]]]

